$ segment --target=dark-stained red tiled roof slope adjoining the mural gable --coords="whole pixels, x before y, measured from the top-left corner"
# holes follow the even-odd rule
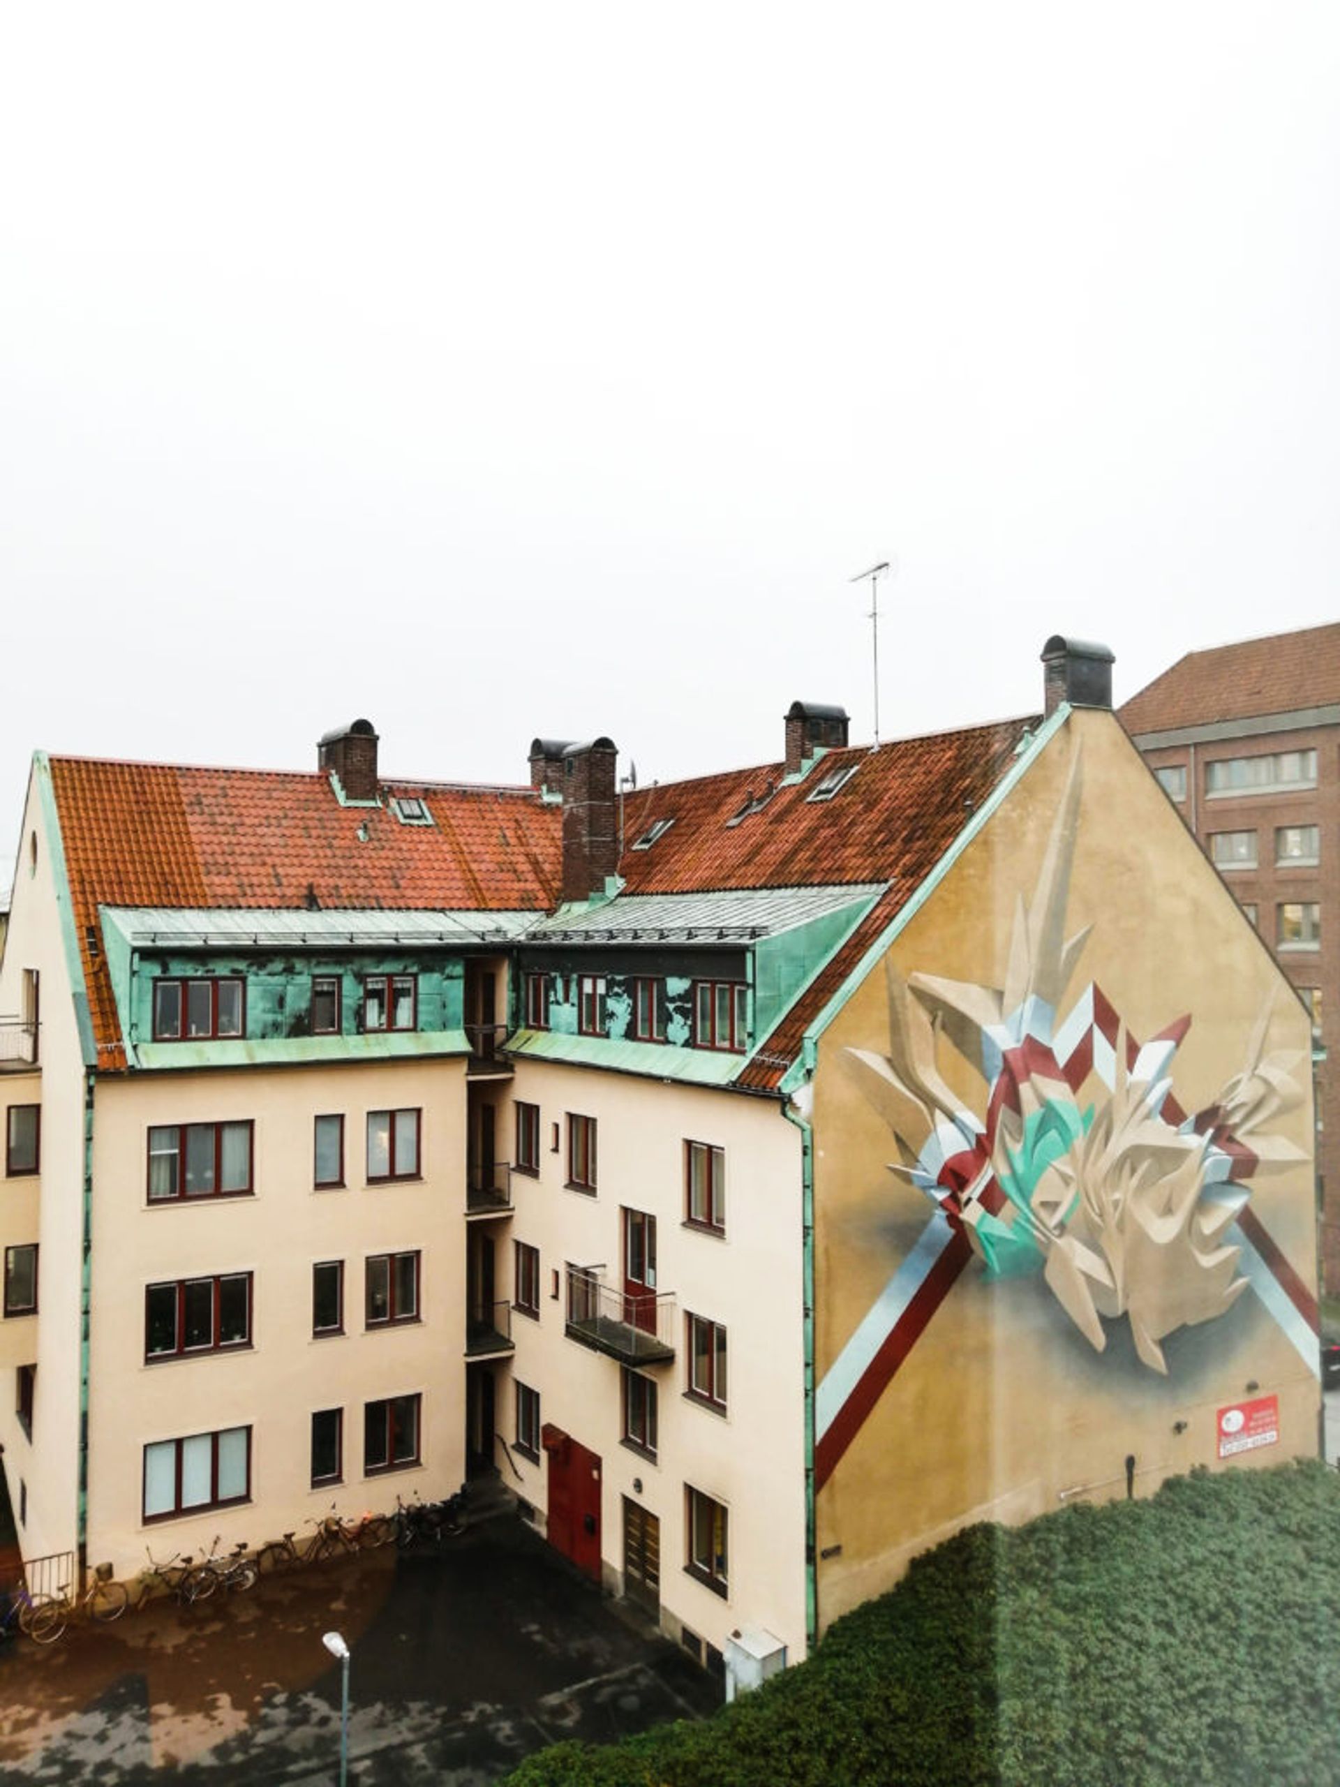
[[[1015,761],[1020,738],[1036,724],[1033,717],[906,738],[877,751],[831,751],[802,783],[777,788],[761,811],[734,827],[725,822],[740,811],[745,795],[758,799],[770,783],[781,781],[781,763],[640,788],[629,797],[627,845],[656,818],[674,818],[650,849],[625,847],[620,874],[631,894],[893,883],[763,1042],[736,1085],[768,1092],[781,1083],[809,1024],[986,801]],[[809,801],[822,777],[847,763],[856,763],[858,770],[842,792],[833,801]]]

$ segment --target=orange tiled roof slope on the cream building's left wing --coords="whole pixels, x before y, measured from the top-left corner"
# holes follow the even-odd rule
[[[52,758],[98,1065],[123,1067],[98,906],[547,910],[559,824],[529,788],[389,783],[436,826],[339,806],[325,776]],[[366,843],[359,827],[366,826]]]

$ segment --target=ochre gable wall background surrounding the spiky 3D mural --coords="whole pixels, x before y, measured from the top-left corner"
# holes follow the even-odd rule
[[[1270,1003],[1267,1047],[1294,1053],[1301,1095],[1267,1128],[1301,1158],[1254,1176],[1251,1210],[1315,1288],[1306,1015],[1111,717],[1070,717],[888,960],[902,976],[1004,983],[1018,902],[1033,899],[1081,745],[1065,936],[1093,929],[1059,1010],[1093,981],[1140,1042],[1188,1013],[1172,1083],[1181,1106],[1197,1112],[1245,1067],[1252,1024]],[[854,988],[818,1047],[820,1381],[933,1219],[927,1197],[886,1167],[897,1158],[893,1135],[843,1061],[849,1045],[877,1053],[890,1045],[883,963]],[[943,1036],[936,1065],[981,1115],[984,1083]],[[1104,1097],[1092,1076],[1079,1103]],[[1017,1521],[1076,1496],[1126,1494],[1127,1455],[1136,1460],[1136,1494],[1170,1472],[1215,1467],[1217,1410],[1245,1396],[1279,1401],[1277,1444],[1245,1455],[1245,1465],[1315,1455],[1315,1360],[1301,1356],[1254,1290],[1213,1321],[1172,1333],[1167,1376],[1136,1358],[1122,1319],[1106,1331],[1099,1353],[1042,1274],[992,1278],[977,1260],[965,1267],[820,1490],[824,1624],[968,1521]]]

